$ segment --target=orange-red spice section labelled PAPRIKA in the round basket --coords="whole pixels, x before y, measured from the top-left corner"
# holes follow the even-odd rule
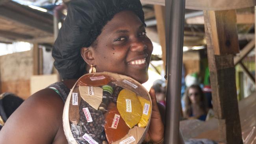
[[[123,138],[129,132],[129,127],[126,125],[122,119],[117,107],[109,110],[105,118],[106,124],[104,126],[106,137],[111,144],[117,140]]]

